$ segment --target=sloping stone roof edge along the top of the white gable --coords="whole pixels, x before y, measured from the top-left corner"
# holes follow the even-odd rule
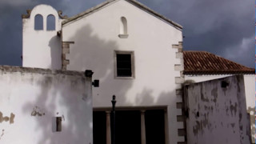
[[[65,21],[62,22],[62,26],[66,25],[70,22],[73,22],[73,21],[77,20],[78,18],[86,17],[89,14],[93,14],[94,12],[104,8],[105,6],[108,6],[108,5],[110,5],[114,2],[118,2],[118,1],[120,1],[120,0],[108,0],[106,2],[102,2],[98,6],[94,6],[94,7],[90,8],[89,10],[86,10],[86,11],[80,13],[80,14],[74,15],[73,17],[67,18]],[[139,9],[144,10],[147,13],[154,15],[154,17],[156,17],[156,18],[159,18],[160,20],[169,23],[171,26],[174,26],[174,27],[176,27],[178,29],[181,29],[181,30],[183,28],[178,23],[171,21],[170,19],[162,16],[161,14],[158,14],[154,10],[151,10],[150,8],[148,8],[147,6],[142,5],[142,3],[140,3],[140,2],[137,2],[135,0],[125,0],[125,1],[130,2],[130,4],[138,7]]]

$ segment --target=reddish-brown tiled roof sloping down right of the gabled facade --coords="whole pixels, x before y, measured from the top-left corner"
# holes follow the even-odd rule
[[[206,51],[183,51],[184,74],[255,74],[242,66]]]

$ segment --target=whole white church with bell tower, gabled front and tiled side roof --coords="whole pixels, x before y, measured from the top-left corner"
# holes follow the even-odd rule
[[[185,144],[183,84],[234,74],[245,75],[248,113],[255,119],[254,69],[183,51],[182,26],[137,1],[109,0],[70,18],[38,5],[22,22],[22,66],[94,71],[94,144],[111,142],[113,95],[116,143]]]

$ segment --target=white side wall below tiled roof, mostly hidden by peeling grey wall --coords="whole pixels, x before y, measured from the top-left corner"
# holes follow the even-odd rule
[[[231,75],[185,75],[186,83],[206,82],[217,78],[225,78]],[[244,74],[244,83],[246,91],[246,109],[250,114],[250,127],[252,142],[255,143],[255,76],[254,74]]]

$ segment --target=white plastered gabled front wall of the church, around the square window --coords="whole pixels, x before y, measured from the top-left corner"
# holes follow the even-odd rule
[[[120,18],[126,17],[128,38],[119,38]],[[117,106],[168,106],[170,143],[184,141],[178,137],[175,95],[180,84],[175,84],[179,71],[174,64],[177,49],[172,45],[182,42],[182,31],[151,14],[132,6],[126,1],[117,1],[97,10],[86,18],[78,18],[62,27],[62,41],[70,44],[70,60],[67,70],[94,70],[94,78],[100,87],[93,89],[93,106],[110,107],[111,97],[117,96]],[[114,78],[114,50],[134,51],[135,78]]]

